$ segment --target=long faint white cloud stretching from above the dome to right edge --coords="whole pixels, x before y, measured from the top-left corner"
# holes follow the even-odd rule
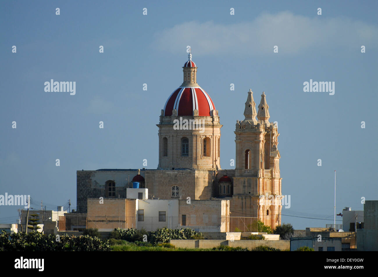
[[[311,49],[327,48],[360,51],[361,45],[376,48],[378,28],[375,25],[345,17],[312,18],[285,11],[261,14],[249,22],[225,25],[212,21],[185,22],[155,34],[153,46],[171,53],[182,53],[191,45],[193,54],[259,55],[297,54]]]

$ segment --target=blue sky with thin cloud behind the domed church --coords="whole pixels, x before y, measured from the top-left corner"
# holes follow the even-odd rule
[[[336,214],[363,210],[361,198],[378,200],[377,8],[376,1],[3,1],[0,194],[29,194],[35,209],[71,200],[75,209],[76,170],[156,169],[156,124],[182,83],[190,45],[197,82],[223,124],[222,169],[234,169],[235,123],[249,89],[257,105],[265,91],[280,133],[282,194],[290,195],[282,222],[332,224],[334,170]],[[46,92],[51,79],[76,82],[75,94]],[[305,92],[310,79],[335,82],[334,94]],[[19,208],[0,206],[0,223],[15,223]]]

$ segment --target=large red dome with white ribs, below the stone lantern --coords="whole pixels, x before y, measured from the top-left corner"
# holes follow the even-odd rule
[[[193,116],[195,109],[199,116],[211,116],[215,105],[202,88],[179,87],[169,96],[164,106],[164,116],[171,116],[173,109],[177,110],[178,116]]]

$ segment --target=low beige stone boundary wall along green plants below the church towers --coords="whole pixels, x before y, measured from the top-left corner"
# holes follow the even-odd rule
[[[289,240],[170,240],[170,244],[178,248],[213,248],[220,245],[228,245],[231,247],[246,247],[251,250],[263,245],[278,248],[281,251],[290,249]]]

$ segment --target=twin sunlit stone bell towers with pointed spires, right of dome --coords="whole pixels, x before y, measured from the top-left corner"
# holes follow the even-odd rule
[[[280,153],[277,150],[279,133],[277,125],[269,122],[269,106],[264,92],[258,108],[256,112],[253,92],[249,90],[245,102],[245,118],[242,121],[237,120],[235,128],[236,168],[233,199],[248,199],[251,205],[245,207],[245,210],[242,203],[240,206],[236,205],[238,207],[234,207],[232,216],[258,217],[273,229],[281,222],[282,208]]]

